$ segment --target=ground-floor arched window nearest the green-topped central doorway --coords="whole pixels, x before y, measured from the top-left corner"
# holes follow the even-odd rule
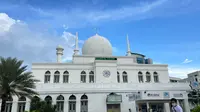
[[[86,95],[81,96],[81,112],[88,112],[88,97]]]

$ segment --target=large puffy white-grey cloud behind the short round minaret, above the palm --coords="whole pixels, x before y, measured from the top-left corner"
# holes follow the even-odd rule
[[[22,21],[0,13],[0,56],[17,57],[25,63],[56,61],[56,46],[64,47],[63,59],[72,58],[75,43],[74,35],[63,32],[62,35],[49,33],[40,26],[30,27]]]

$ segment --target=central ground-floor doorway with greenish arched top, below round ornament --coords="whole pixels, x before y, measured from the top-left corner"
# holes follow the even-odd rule
[[[110,93],[107,96],[107,112],[120,112],[120,104],[122,102],[122,96],[116,93]]]

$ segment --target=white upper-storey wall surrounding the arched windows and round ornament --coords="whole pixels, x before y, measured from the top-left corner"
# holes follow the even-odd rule
[[[60,83],[62,83],[62,75],[65,70],[69,72],[69,83],[80,83],[81,71],[86,71],[87,82],[89,82],[89,72],[94,71],[96,83],[117,83],[117,71],[120,73],[120,81],[122,81],[122,72],[126,71],[128,75],[128,83],[139,83],[138,72],[143,73],[144,81],[146,81],[146,72],[151,74],[151,83],[154,83],[153,72],[158,73],[160,83],[168,83],[169,75],[167,65],[151,65],[151,64],[117,64],[116,61],[95,61],[89,64],[74,64],[74,63],[44,63],[33,64],[33,75],[44,82],[45,72],[51,72],[51,83],[53,83],[53,76],[55,71],[61,73]],[[111,76],[105,78],[103,71],[109,70]]]

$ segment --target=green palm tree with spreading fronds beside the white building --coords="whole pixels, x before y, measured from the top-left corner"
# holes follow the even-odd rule
[[[2,99],[1,112],[5,111],[6,101],[10,96],[25,96],[32,98],[38,95],[34,91],[35,82],[31,72],[27,72],[27,66],[23,66],[22,60],[16,58],[0,57],[0,99]]]

